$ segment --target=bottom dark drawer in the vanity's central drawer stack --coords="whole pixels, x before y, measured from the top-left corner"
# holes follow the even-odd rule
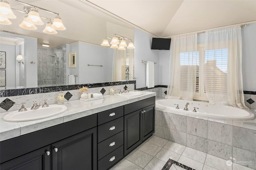
[[[98,161],[98,170],[107,170],[124,156],[124,145]]]

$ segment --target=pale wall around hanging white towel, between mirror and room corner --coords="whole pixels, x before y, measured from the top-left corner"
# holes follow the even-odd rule
[[[159,85],[159,50],[151,49],[152,35],[134,28],[134,76],[136,88],[146,87],[146,63],[144,61],[156,62],[154,64],[155,86]]]

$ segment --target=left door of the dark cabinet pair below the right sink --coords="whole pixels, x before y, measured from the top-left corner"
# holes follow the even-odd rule
[[[142,143],[140,112],[138,110],[124,116],[124,155]]]

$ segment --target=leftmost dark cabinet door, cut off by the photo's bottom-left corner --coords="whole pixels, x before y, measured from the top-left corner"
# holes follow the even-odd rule
[[[48,154],[46,153],[48,152]],[[50,170],[50,146],[0,165],[1,170]]]

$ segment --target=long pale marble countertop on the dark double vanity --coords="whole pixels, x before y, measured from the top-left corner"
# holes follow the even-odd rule
[[[134,90],[136,91],[136,90]],[[74,100],[70,102],[65,102],[64,106],[68,107],[68,110],[62,114],[48,117],[45,119],[33,120],[33,121],[23,121],[23,122],[7,122],[3,120],[4,115],[11,113],[4,112],[0,114],[0,141],[25,135],[34,131],[45,129],[54,125],[58,125],[64,122],[72,121],[81,117],[99,113],[108,109],[123,106],[133,102],[137,102],[146,98],[156,96],[154,92],[142,92],[141,96],[135,97],[122,97],[105,95],[104,98],[98,100],[92,100],[84,102],[81,100]]]

